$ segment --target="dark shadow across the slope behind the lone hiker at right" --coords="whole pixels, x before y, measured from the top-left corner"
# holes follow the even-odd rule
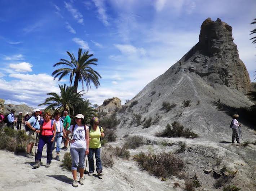
[[[238,114],[239,118],[238,121],[246,126],[250,127],[251,129],[256,130],[256,109],[251,107],[231,107],[225,103],[219,101],[212,101],[212,104],[217,107],[219,111],[225,112],[229,116],[233,116],[234,114]]]

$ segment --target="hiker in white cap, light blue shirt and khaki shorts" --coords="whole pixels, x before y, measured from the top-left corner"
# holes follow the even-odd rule
[[[40,129],[40,124],[37,119],[37,116],[40,113],[40,109],[34,109],[32,111],[32,116],[29,118],[29,120],[26,122],[26,125],[29,127],[29,141],[27,144],[27,154],[26,157],[33,157],[34,153],[32,153],[32,149],[34,146],[34,143],[36,143],[36,138],[37,138],[37,133],[39,132]]]

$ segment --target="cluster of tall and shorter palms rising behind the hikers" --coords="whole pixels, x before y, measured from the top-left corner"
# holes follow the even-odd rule
[[[66,84],[59,85],[60,94],[48,93],[49,97],[39,106],[47,106],[45,110],[69,111],[71,117],[82,113],[85,120],[89,121],[92,116],[97,115],[96,108],[98,105],[94,104],[94,109],[89,100],[83,98],[84,85],[87,87],[87,91],[89,88],[91,89],[91,83],[96,88],[100,86],[99,79],[101,75],[92,68],[92,65],[97,66],[98,59],[92,58],[93,54],[89,54],[89,51],[83,52],[81,48],[78,50],[78,59],[76,59],[73,53],[67,51],[67,54],[71,60],[60,59],[61,62],[54,64],[53,67],[63,67],[54,70],[52,76],[54,76],[54,80],[58,78],[58,81],[65,76],[69,76],[70,86]],[[72,86],[73,79],[74,84]],[[82,83],[83,87],[83,90],[80,92],[78,92],[79,82]]]

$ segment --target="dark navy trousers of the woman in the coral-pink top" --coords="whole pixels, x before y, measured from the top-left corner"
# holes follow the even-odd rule
[[[49,136],[40,135],[39,136],[38,149],[36,152],[36,160],[39,160],[41,162],[43,147],[46,143],[46,145],[47,145],[47,163],[50,164],[52,162],[52,142],[51,142],[52,138],[53,138],[53,135],[49,135]]]

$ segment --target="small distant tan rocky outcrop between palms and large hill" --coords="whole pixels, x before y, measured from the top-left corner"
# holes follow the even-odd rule
[[[117,108],[120,108],[121,105],[121,99],[117,97],[105,99],[103,104],[97,108],[99,112],[111,112],[116,110]]]

